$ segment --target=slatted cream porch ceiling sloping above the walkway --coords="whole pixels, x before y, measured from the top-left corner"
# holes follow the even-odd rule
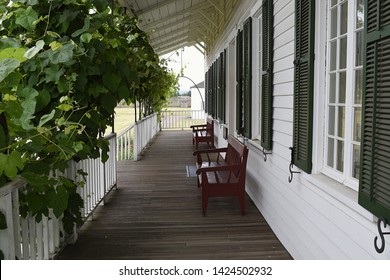
[[[119,0],[139,18],[159,55],[195,45],[204,52],[218,38],[239,0]]]

